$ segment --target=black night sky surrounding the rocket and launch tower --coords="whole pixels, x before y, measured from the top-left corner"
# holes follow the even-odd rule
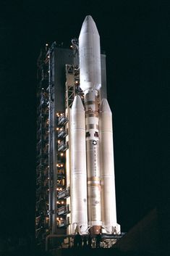
[[[34,232],[36,60],[41,46],[56,41],[69,47],[86,15],[95,20],[106,51],[118,223],[128,231],[154,207],[166,222],[168,1],[1,2],[2,233]]]

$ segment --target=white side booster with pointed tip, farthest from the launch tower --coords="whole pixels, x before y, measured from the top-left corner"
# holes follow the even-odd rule
[[[116,195],[114,181],[114,145],[112,114],[106,99],[101,100],[100,117],[101,145],[101,215],[102,225],[108,233],[116,226]]]

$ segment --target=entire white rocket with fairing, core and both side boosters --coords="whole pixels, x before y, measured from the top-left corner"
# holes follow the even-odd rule
[[[112,115],[100,99],[101,46],[93,18],[88,15],[79,36],[80,88],[71,110],[73,233],[116,234],[116,196]]]

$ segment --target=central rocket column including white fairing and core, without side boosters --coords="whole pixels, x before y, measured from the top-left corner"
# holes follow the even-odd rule
[[[98,131],[98,91],[101,88],[101,47],[95,22],[87,16],[79,37],[80,87],[85,94],[86,157],[88,174],[88,225],[101,229],[101,170]]]

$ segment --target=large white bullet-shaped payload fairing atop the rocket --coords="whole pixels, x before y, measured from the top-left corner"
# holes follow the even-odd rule
[[[88,15],[82,23],[79,36],[80,87],[101,88],[101,46],[100,36],[93,18]]]

